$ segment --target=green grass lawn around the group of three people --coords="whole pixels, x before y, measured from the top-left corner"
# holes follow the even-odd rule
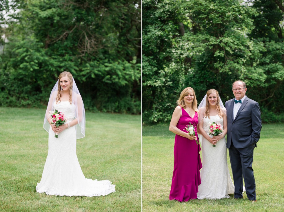
[[[242,200],[170,201],[174,166],[174,136],[169,126],[143,126],[142,192],[146,211],[284,211],[284,124],[264,124],[254,149],[257,202]],[[228,151],[228,150],[227,150]],[[200,151],[201,154],[201,151]],[[232,176],[229,154],[227,161]]]

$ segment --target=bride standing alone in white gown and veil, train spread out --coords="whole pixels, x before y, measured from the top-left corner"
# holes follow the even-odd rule
[[[76,139],[85,137],[84,104],[72,77],[64,71],[53,87],[45,113],[43,128],[49,132],[48,156],[36,190],[48,195],[101,196],[115,191],[109,180],[85,178],[76,155]],[[58,110],[67,119],[56,127],[50,112]],[[58,134],[58,138],[54,135]]]

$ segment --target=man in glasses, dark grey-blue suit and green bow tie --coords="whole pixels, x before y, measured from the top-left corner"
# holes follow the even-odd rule
[[[243,198],[243,178],[247,198],[256,202],[255,180],[252,169],[253,152],[260,138],[261,115],[257,102],[247,98],[246,84],[236,81],[232,85],[236,98],[225,103],[227,110],[227,148],[235,184],[234,198]]]

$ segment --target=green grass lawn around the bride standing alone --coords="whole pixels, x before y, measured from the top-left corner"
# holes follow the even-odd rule
[[[110,180],[107,196],[37,193],[48,153],[45,109],[0,107],[0,211],[141,211],[141,116],[86,112],[77,156],[86,178]]]

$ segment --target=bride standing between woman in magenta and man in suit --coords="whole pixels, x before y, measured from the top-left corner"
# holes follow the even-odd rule
[[[219,97],[218,91],[210,89],[199,104],[198,130],[202,134],[201,152],[202,169],[201,185],[197,193],[198,199],[221,199],[229,198],[228,194],[234,193],[228,164],[225,135],[227,134],[226,109]],[[209,126],[212,122],[223,126],[223,134],[209,135]],[[212,145],[216,145],[213,147]]]

